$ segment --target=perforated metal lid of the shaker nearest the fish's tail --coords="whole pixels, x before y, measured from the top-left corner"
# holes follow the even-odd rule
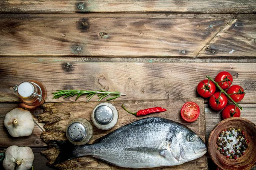
[[[67,136],[74,142],[82,141],[87,135],[87,128],[81,122],[73,122],[67,128]]]

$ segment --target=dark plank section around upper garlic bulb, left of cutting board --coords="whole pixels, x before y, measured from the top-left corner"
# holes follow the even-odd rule
[[[23,137],[12,137],[9,135],[8,130],[4,127],[3,120],[5,119],[6,113],[11,111],[14,108],[20,108],[18,104],[12,105],[1,105],[0,111],[0,147],[9,147],[11,145],[18,145],[18,146],[29,146],[29,147],[42,147],[47,146],[42,139],[40,138],[41,133],[44,131],[44,124],[38,122],[38,114],[42,113],[41,109],[34,109],[30,110],[32,113],[32,117],[35,122],[35,127],[30,136],[23,136]]]

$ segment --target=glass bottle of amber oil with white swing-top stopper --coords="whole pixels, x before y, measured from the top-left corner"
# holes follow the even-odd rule
[[[18,92],[20,100],[27,106],[40,106],[47,98],[47,90],[45,86],[36,80],[22,82],[20,85],[15,85],[15,92]]]

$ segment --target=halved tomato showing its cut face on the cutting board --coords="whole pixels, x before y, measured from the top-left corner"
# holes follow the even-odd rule
[[[195,102],[186,102],[180,111],[181,117],[187,122],[194,122],[200,113],[198,104]]]

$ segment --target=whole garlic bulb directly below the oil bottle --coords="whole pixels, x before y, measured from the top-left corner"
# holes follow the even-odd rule
[[[29,111],[15,108],[6,114],[4,126],[13,137],[29,136],[34,129],[34,121]]]

